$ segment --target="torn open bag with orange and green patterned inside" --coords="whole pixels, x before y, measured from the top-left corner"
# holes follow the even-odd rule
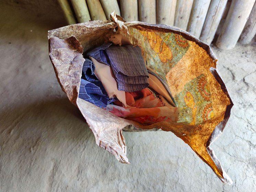
[[[96,143],[121,163],[129,164],[122,130],[171,131],[187,143],[221,181],[231,184],[210,147],[222,133],[233,106],[216,70],[217,59],[210,47],[176,27],[125,22],[115,14],[111,19],[69,25],[48,32],[49,56],[57,80],[71,103],[81,111]],[[182,108],[180,121],[143,125],[117,117],[78,97],[85,60],[83,53],[103,44],[106,35],[114,29],[133,45],[138,45],[148,67],[166,78],[177,107]]]

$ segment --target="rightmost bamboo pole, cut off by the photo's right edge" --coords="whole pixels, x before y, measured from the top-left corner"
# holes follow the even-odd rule
[[[256,34],[256,2],[249,16],[248,21],[245,24],[243,33],[240,36],[239,42],[242,44],[248,44],[252,41]]]

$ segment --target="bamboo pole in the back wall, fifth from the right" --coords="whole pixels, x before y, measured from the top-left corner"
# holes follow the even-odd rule
[[[174,26],[186,31],[193,0],[177,0]]]

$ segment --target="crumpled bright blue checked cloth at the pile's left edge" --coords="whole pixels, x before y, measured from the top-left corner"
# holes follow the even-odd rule
[[[117,98],[109,98],[102,83],[93,73],[95,65],[89,59],[85,59],[82,69],[82,78],[79,90],[79,98],[84,99],[98,107],[106,107],[116,101]]]

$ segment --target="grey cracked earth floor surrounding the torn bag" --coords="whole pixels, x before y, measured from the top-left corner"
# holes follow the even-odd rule
[[[170,132],[124,132],[130,165],[98,147],[61,91],[48,57],[47,31],[65,25],[61,11],[25,13],[9,4],[0,9],[0,191],[256,189],[255,41],[228,51],[212,48],[234,103],[226,128],[212,144],[234,182],[225,185]]]

